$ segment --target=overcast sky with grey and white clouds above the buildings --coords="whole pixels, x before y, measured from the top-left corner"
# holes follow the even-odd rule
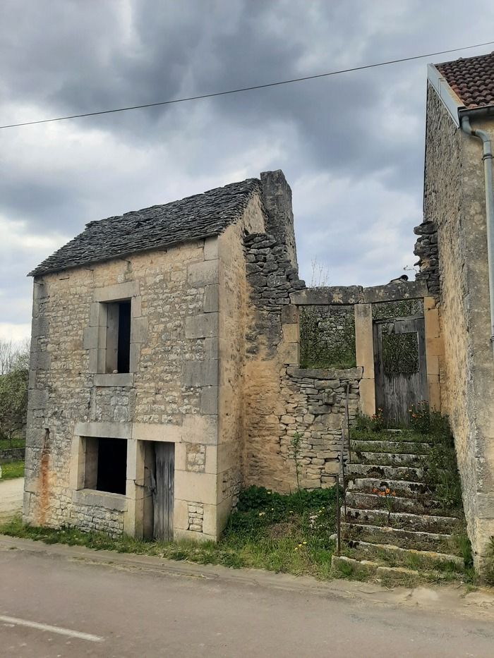
[[[470,0],[468,14],[464,7],[460,0],[2,0],[0,123],[493,40],[492,3]],[[301,278],[310,283],[314,259],[330,285],[399,276],[416,261],[427,63],[1,130],[0,336],[29,334],[25,274],[86,222],[269,169],[283,169],[293,190]]]

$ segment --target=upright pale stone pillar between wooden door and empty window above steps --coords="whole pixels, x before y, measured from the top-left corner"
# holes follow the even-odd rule
[[[374,341],[372,305],[355,305],[355,353],[356,365],[363,369],[360,382],[360,410],[375,414]]]

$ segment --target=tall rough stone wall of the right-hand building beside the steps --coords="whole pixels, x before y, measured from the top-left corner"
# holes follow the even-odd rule
[[[437,230],[441,407],[450,416],[469,536],[480,563],[494,535],[494,363],[481,144],[454,126],[431,87],[427,114],[421,226],[432,223]],[[494,135],[492,123],[480,127]]]

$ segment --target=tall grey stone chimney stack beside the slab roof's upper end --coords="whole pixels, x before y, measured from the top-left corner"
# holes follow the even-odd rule
[[[298,269],[290,185],[281,169],[262,171],[260,182],[267,211],[266,233],[275,236],[279,243],[287,246],[291,265]]]

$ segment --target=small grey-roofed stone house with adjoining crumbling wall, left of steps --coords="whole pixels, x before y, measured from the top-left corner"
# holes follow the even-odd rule
[[[281,171],[92,221],[31,274],[25,520],[216,539],[241,485],[294,486],[295,416],[304,484],[335,481],[360,372],[298,370]]]

